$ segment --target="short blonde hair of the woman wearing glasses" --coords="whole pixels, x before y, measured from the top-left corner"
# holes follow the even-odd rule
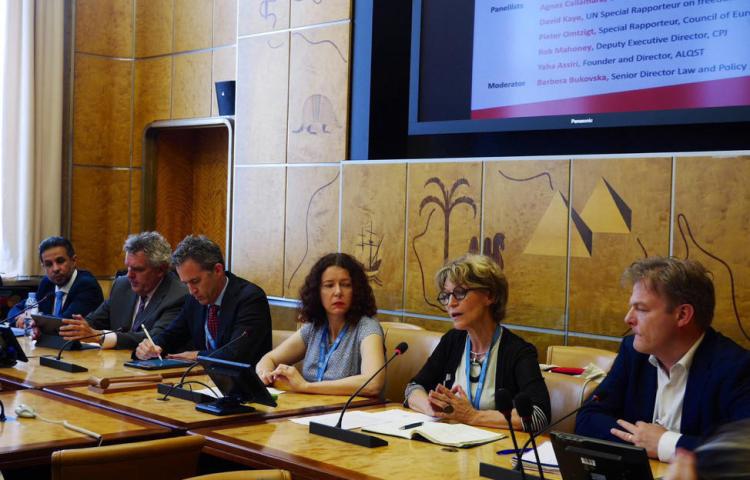
[[[442,290],[448,280],[455,285],[488,290],[490,297],[494,300],[490,306],[492,318],[497,323],[505,318],[505,307],[508,304],[508,280],[500,269],[500,265],[492,258],[467,253],[452,260],[443,265],[435,274],[438,290]]]

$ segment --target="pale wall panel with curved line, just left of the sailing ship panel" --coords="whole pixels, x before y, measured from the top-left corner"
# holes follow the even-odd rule
[[[318,259],[338,249],[339,168],[287,170],[284,296],[297,298]]]

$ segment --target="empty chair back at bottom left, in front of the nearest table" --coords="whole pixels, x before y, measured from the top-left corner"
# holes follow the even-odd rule
[[[52,480],[178,480],[195,475],[205,439],[200,435],[52,453]]]

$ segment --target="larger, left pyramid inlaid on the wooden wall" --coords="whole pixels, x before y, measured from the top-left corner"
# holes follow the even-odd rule
[[[570,254],[574,257],[590,257],[593,248],[591,229],[575,209],[571,212],[573,228],[570,232]],[[523,253],[564,257],[568,254],[567,238],[568,202],[558,191],[552,197]]]

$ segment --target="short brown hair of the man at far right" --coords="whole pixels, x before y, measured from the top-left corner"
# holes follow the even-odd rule
[[[692,305],[695,322],[702,329],[711,326],[716,296],[711,272],[695,260],[650,257],[633,262],[623,281],[644,286],[667,300],[670,311],[678,305]]]

